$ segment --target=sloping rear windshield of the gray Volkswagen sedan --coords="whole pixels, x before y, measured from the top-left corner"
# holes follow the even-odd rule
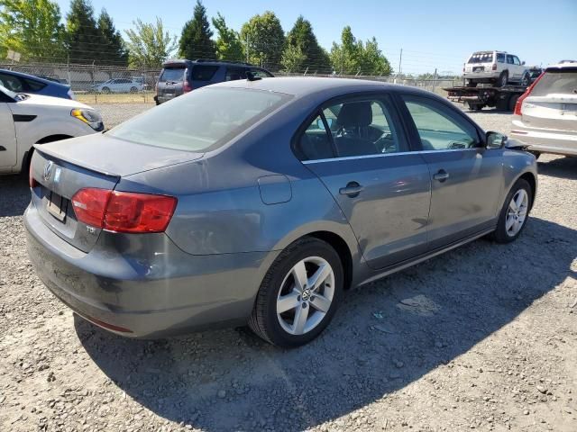
[[[149,146],[205,152],[224,145],[290,97],[243,88],[202,88],[107,133]]]

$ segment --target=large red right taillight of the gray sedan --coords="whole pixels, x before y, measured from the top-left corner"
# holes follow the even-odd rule
[[[96,188],[80,189],[72,197],[78,220],[117,232],[162,232],[176,205],[172,196]]]

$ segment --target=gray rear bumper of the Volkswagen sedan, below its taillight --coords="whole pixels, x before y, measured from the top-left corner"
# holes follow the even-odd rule
[[[274,252],[193,256],[164,234],[104,232],[84,253],[52,232],[31,205],[27,247],[41,281],[94,324],[131,338],[161,338],[243,324]]]

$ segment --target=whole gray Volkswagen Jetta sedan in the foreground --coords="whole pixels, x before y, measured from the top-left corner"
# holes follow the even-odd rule
[[[415,87],[210,85],[38,148],[29,255],[52,293],[114,333],[248,323],[295,347],[349,287],[481,236],[515,240],[536,160],[505,144]]]

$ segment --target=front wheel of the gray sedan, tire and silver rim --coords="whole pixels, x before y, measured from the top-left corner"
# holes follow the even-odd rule
[[[507,194],[492,238],[497,243],[510,243],[517,239],[527,225],[532,204],[531,186],[526,180],[519,178]]]

